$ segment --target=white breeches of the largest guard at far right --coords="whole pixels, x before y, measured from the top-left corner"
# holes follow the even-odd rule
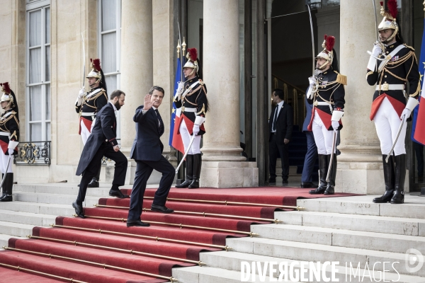
[[[382,154],[390,154],[391,146],[395,141],[395,137],[397,137],[397,131],[402,122],[399,115],[392,107],[390,100],[387,98],[382,100],[378,112],[376,112],[375,117],[373,117],[373,122],[375,122],[376,133],[378,134]],[[406,127],[407,123],[404,123],[399,138],[397,139],[397,144],[395,144],[394,147],[394,155],[406,154],[406,148],[404,147]]]

